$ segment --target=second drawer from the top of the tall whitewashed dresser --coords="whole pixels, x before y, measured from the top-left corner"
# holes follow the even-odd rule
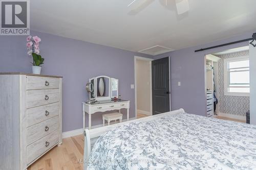
[[[27,90],[27,108],[59,102],[59,89]]]

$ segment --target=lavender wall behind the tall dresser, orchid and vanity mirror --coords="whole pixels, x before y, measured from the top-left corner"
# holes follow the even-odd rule
[[[131,101],[130,117],[135,117],[135,91],[130,87],[134,84],[134,56],[152,56],[34,31],[31,35],[42,39],[40,54],[45,64],[41,73],[63,76],[63,132],[82,128],[81,103],[88,100],[85,86],[89,78],[99,75],[119,79],[119,93]],[[32,58],[25,41],[26,36],[0,36],[0,72],[31,73]],[[92,115],[92,126],[102,124],[101,115]],[[88,115],[86,120],[88,126]]]

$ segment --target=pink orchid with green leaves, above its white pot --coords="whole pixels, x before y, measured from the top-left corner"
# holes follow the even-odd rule
[[[27,37],[27,49],[28,49],[28,55],[33,56],[33,65],[34,66],[40,66],[41,64],[44,64],[44,58],[42,58],[39,53],[39,42],[41,39],[37,36],[28,36]]]

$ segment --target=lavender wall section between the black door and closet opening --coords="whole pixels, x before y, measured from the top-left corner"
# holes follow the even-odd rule
[[[170,88],[172,91],[170,105],[172,110],[184,108],[188,113],[205,115],[204,56],[206,54],[222,52],[230,48],[245,46],[248,45],[248,42],[223,46],[197,53],[194,52],[195,50],[246,39],[251,37],[253,33],[254,32],[249,32],[225,40],[155,56],[154,59],[170,56]],[[181,82],[181,86],[178,86],[178,82]]]

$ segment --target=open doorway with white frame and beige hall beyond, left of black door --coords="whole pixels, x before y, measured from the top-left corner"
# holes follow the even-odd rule
[[[152,115],[152,61],[150,58],[134,57],[136,118]]]

